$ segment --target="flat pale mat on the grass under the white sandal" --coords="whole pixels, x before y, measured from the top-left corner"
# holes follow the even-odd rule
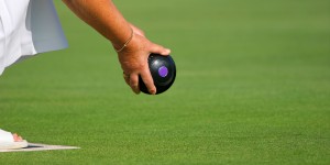
[[[33,152],[33,151],[47,151],[47,150],[73,150],[73,148],[80,148],[80,147],[29,143],[28,147],[18,148],[18,150],[0,150],[0,153],[2,153],[2,152]]]

